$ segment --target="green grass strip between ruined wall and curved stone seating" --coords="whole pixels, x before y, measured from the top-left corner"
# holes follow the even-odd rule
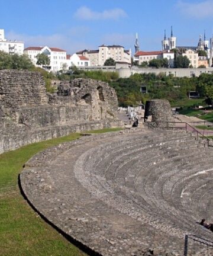
[[[114,130],[104,129],[96,133]],[[86,255],[47,225],[23,199],[18,187],[18,174],[35,153],[79,137],[80,133],[72,133],[0,155],[0,255]]]

